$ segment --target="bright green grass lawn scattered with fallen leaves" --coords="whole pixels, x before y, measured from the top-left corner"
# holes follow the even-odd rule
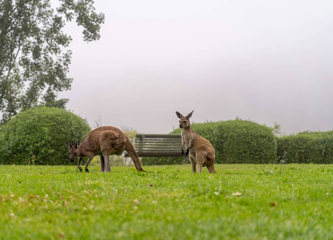
[[[333,165],[144,168],[0,166],[0,239],[333,238]]]

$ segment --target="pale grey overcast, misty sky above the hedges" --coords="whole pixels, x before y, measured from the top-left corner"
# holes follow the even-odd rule
[[[103,1],[101,39],[73,41],[67,108],[93,127],[168,133],[237,116],[282,131],[333,129],[333,1]]]

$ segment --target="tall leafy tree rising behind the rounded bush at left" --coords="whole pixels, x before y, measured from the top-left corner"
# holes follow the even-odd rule
[[[2,0],[0,2],[0,112],[6,122],[20,110],[45,105],[64,108],[68,99],[56,100],[71,87],[67,77],[72,38],[63,32],[76,19],[84,41],[100,38],[104,14],[93,0]]]

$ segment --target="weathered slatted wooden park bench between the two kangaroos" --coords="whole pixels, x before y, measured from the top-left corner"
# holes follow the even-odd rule
[[[180,134],[137,134],[134,147],[139,157],[181,156]],[[129,157],[126,153],[125,157]],[[185,162],[186,159],[185,159]]]

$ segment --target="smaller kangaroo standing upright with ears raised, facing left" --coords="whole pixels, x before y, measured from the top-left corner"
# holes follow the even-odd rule
[[[192,165],[192,172],[196,172],[196,163],[198,163],[198,173],[202,173],[202,167],[207,166],[210,173],[216,173],[214,169],[215,152],[210,142],[195,133],[191,128],[189,118],[192,116],[189,113],[186,117],[176,112],[179,120],[179,127],[181,128],[181,154],[184,154],[184,146],[186,145],[186,156],[189,156],[189,160]]]

